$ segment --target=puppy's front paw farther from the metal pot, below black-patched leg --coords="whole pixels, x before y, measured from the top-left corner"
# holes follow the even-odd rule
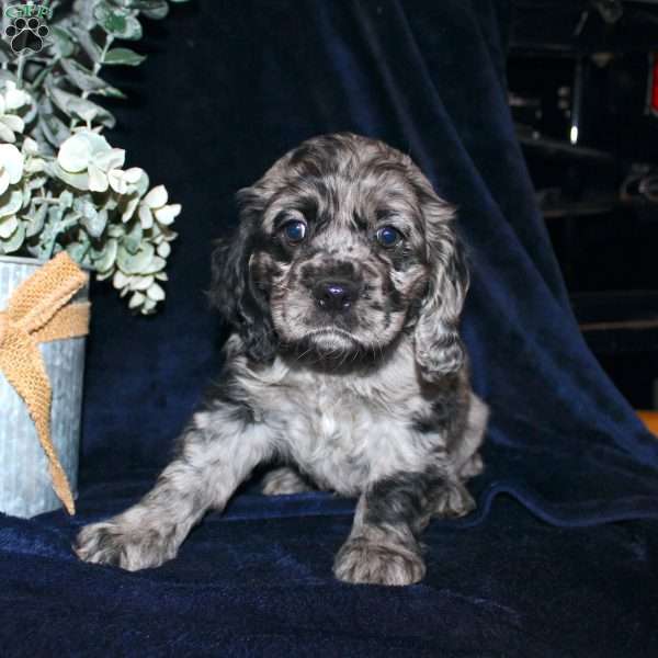
[[[412,548],[356,537],[339,551],[333,575],[344,582],[401,586],[422,580],[426,566]]]

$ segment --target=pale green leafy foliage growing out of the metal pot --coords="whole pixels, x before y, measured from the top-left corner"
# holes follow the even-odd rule
[[[169,4],[56,0],[50,7],[41,52],[15,56],[0,42],[0,254],[48,259],[66,250],[111,281],[131,309],[150,314],[164,298],[181,206],[168,203],[162,185],[149,190],[143,169],[125,169],[125,151],[102,136],[116,123],[102,99],[125,97],[101,73],[104,66],[144,61],[115,42],[139,41],[140,21],[164,18]]]

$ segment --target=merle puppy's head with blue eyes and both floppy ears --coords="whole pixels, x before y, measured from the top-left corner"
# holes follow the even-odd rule
[[[250,358],[376,355],[412,331],[426,379],[461,367],[468,280],[453,209],[408,156],[356,135],[316,137],[238,202],[211,298]]]

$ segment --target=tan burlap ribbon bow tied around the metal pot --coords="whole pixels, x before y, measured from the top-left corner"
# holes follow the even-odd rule
[[[0,313],[0,371],[27,407],[48,457],[53,487],[69,514],[76,507],[50,439],[53,392],[38,343],[88,333],[89,304],[67,306],[86,283],[87,274],[63,251],[23,281]]]

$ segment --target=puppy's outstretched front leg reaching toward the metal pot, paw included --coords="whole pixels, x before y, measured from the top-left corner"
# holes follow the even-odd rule
[[[211,508],[222,510],[239,484],[273,452],[260,424],[246,423],[227,406],[200,411],[181,436],[180,455],[137,504],[84,526],[75,551],[89,563],[129,571],[175,557],[192,526]]]

